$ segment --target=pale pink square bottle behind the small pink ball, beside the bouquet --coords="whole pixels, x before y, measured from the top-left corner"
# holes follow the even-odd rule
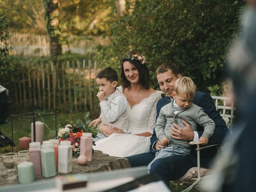
[[[92,161],[92,134],[83,133],[80,140],[80,155],[87,157],[88,161]]]

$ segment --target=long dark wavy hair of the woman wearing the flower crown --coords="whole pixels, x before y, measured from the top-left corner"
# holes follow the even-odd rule
[[[146,66],[146,64],[142,64],[141,62],[139,62],[137,59],[133,59],[131,60],[130,58],[127,58],[127,55],[130,56],[134,56],[137,53],[135,52],[128,52],[124,55],[124,57],[121,60],[121,85],[123,87],[123,89],[128,88],[130,90],[131,88],[131,83],[130,81],[127,80],[125,74],[124,74],[124,62],[128,61],[130,62],[132,65],[134,65],[138,71],[139,71],[139,84],[143,89],[149,89],[150,85],[151,85],[151,79],[149,76],[149,71],[148,71],[148,67]]]

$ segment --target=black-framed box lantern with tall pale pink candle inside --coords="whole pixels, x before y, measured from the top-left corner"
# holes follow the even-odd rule
[[[29,112],[12,115],[12,141],[14,134],[24,136],[19,139],[20,148],[28,149],[30,142],[39,141],[42,144],[46,130],[57,136],[56,113]],[[55,122],[54,122],[55,121]],[[54,128],[55,127],[55,131]],[[48,132],[47,131],[47,132]],[[48,134],[49,135],[49,134]],[[52,138],[51,136],[50,138]],[[15,138],[17,140],[17,138]],[[48,140],[48,138],[46,138]],[[13,152],[13,146],[12,146]]]

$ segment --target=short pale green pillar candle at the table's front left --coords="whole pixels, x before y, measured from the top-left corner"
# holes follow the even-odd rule
[[[18,164],[18,178],[21,184],[31,183],[35,180],[34,166],[32,162]]]

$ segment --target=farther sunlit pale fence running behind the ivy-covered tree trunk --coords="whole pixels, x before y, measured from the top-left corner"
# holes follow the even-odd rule
[[[102,36],[75,36],[68,38],[68,44],[62,45],[62,53],[70,50],[71,52],[86,54],[98,44],[108,44],[108,38]],[[11,33],[7,40],[9,46],[12,46],[12,54],[49,56],[50,41],[47,35],[29,34],[29,33]]]

